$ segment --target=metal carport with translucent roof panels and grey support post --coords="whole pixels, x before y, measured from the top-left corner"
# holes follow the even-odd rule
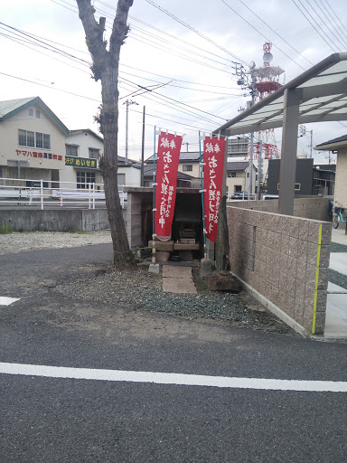
[[[292,215],[298,125],[338,120],[347,120],[347,52],[328,56],[213,134],[232,136],[283,128],[279,213]]]

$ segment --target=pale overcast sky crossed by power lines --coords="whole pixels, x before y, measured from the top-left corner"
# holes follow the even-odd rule
[[[97,19],[107,17],[108,36],[117,1],[92,3]],[[98,133],[100,84],[90,78],[76,2],[11,0],[0,17],[0,100],[40,96],[68,128]],[[211,132],[237,116],[250,97],[237,84],[234,62],[245,71],[250,61],[262,66],[263,43],[272,43],[271,64],[285,70],[281,83],[333,52],[347,51],[345,0],[134,0],[129,24],[119,75],[119,154],[125,155],[123,103],[131,99],[137,105],[129,106],[128,156],[134,159],[141,156],[144,105],[145,157],[153,154],[155,126],[186,134],[183,143],[196,151],[199,130]],[[41,46],[8,26],[35,34]],[[153,91],[134,96],[138,85]],[[347,122],[306,125],[309,130],[317,145],[345,135]],[[275,137],[280,147],[279,130]],[[309,153],[309,145],[309,134],[299,138],[299,151]]]

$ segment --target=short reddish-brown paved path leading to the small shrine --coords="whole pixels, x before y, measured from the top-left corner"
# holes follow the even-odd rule
[[[191,267],[163,266],[163,291],[177,294],[197,294]]]

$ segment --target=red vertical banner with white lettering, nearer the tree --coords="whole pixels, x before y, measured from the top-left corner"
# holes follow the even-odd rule
[[[155,234],[160,241],[171,239],[181,146],[182,137],[160,133],[155,175]]]

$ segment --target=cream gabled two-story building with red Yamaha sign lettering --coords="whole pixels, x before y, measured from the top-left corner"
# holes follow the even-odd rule
[[[1,184],[59,181],[69,129],[39,97],[0,102]]]

